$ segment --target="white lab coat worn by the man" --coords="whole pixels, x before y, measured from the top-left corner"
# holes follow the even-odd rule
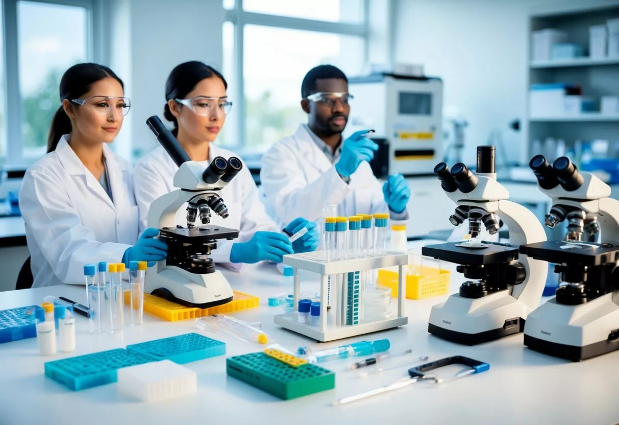
[[[345,217],[389,212],[370,164],[361,162],[345,183],[303,125],[262,156],[260,182],[269,212],[285,223],[300,216],[319,221],[325,204],[338,204]]]

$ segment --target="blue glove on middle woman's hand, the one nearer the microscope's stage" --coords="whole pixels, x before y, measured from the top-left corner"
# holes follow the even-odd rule
[[[285,235],[275,232],[256,232],[247,242],[232,244],[230,262],[251,264],[269,260],[281,263],[282,256],[292,253],[292,244]]]

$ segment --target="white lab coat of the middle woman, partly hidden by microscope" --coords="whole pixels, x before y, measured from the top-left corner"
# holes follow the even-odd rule
[[[222,156],[225,159],[231,156],[238,157],[233,152],[227,151],[215,144],[210,144],[209,161],[217,156]],[[177,170],[178,166],[161,146],[137,162],[133,178],[136,200],[140,211],[140,233],[144,232],[144,229],[147,227],[149,208],[152,201],[166,193],[178,190],[173,185],[174,175]],[[261,203],[258,196],[256,183],[245,163],[243,163],[243,169],[232,181],[219,191],[219,195],[228,208],[228,218],[223,219],[212,211],[210,224],[230,229],[239,229],[239,235],[238,239],[235,240],[218,240],[217,249],[212,252],[210,258],[215,263],[240,270],[242,267],[240,263],[230,263],[232,244],[234,242],[247,242],[259,230],[279,233],[281,229],[266,214],[264,204]],[[176,224],[187,226],[186,208],[187,204],[184,204],[176,212]]]

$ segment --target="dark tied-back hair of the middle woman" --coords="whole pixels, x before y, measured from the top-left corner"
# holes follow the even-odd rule
[[[184,99],[199,82],[213,76],[218,77],[223,82],[223,87],[228,89],[228,83],[225,78],[212,66],[199,61],[181,63],[172,69],[170,76],[168,76],[168,81],[165,82],[165,100]],[[178,136],[178,121],[176,121],[176,116],[170,111],[170,105],[167,102],[165,107],[163,107],[163,116],[174,124],[172,134],[175,137]]]

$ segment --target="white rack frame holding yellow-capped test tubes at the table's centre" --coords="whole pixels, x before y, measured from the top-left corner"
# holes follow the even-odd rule
[[[291,266],[294,271],[294,311],[275,315],[275,324],[321,342],[340,340],[342,338],[350,338],[351,336],[364,335],[366,333],[396,328],[397,326],[404,326],[408,323],[408,318],[404,315],[404,268],[408,263],[409,255],[401,252],[384,252],[367,258],[348,258],[345,260],[330,261],[326,261],[324,251],[284,255],[284,264]],[[337,292],[338,301],[331,303],[331,312],[327,313],[327,309],[323,306],[322,300],[327,299],[327,279],[329,276],[341,275],[342,281],[346,282],[348,273],[396,266],[398,267],[399,288],[396,317],[378,321],[359,320],[358,323],[354,325],[340,324],[342,322],[337,320],[333,320],[333,323],[327,323],[327,315],[332,314],[334,315],[333,317],[337,318],[341,317],[342,314],[342,312],[339,311],[341,304],[340,297],[342,297],[340,291],[335,291]],[[301,323],[298,320],[297,309],[301,293],[299,270],[311,271],[319,274],[321,277],[321,309],[318,318],[318,326],[309,325],[309,323]],[[332,283],[332,286],[334,286],[334,283]],[[334,292],[333,287],[331,288],[331,292]]]

